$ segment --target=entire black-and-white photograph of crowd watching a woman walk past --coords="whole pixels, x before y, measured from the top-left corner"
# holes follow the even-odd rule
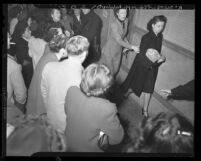
[[[3,10],[6,157],[194,157],[195,5]]]

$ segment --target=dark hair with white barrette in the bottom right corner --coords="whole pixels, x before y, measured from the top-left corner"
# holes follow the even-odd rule
[[[144,119],[139,136],[129,143],[126,152],[193,153],[193,125],[177,113],[161,112]]]

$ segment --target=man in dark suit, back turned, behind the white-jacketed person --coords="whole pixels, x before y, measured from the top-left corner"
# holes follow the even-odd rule
[[[91,9],[82,9],[82,12],[82,30],[80,32],[80,35],[86,37],[90,43],[89,55],[83,63],[83,66],[87,67],[93,62],[99,61],[101,56],[100,36],[102,29],[102,20]]]

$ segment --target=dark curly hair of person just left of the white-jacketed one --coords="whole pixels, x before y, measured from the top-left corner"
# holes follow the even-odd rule
[[[49,42],[49,48],[52,52],[58,53],[60,49],[65,49],[67,37],[64,34],[56,35]]]

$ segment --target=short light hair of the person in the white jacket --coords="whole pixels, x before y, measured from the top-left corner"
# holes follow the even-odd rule
[[[89,41],[86,37],[80,35],[71,37],[66,43],[66,51],[68,56],[79,56],[84,52],[88,54],[88,48]]]

